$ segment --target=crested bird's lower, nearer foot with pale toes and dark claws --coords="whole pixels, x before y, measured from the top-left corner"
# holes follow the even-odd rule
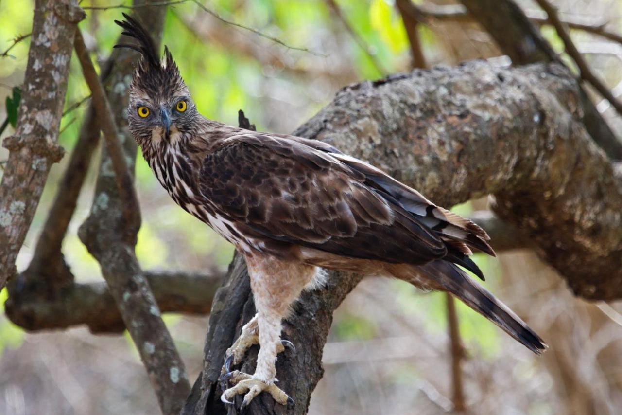
[[[244,408],[253,401],[255,396],[262,392],[267,392],[271,394],[272,398],[274,398],[277,403],[282,405],[294,404],[294,399],[287,396],[284,391],[277,388],[276,384],[274,384],[276,379],[272,382],[264,382],[253,378],[253,376],[248,373],[243,373],[238,370],[226,374],[225,378],[235,386],[226,389],[223,394],[221,394],[220,400],[223,401],[223,403],[233,404],[233,399],[236,395],[245,393],[244,400],[242,401],[242,408]]]

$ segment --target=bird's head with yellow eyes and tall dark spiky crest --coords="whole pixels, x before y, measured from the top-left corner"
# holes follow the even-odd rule
[[[138,44],[116,44],[140,52],[142,57],[132,75],[129,87],[128,125],[139,145],[168,143],[177,133],[189,131],[195,121],[197,108],[179,68],[167,47],[160,59],[156,44],[144,27],[123,13],[124,21],[114,21],[124,35]]]

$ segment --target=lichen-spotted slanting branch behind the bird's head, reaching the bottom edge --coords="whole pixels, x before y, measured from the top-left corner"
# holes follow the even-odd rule
[[[140,14],[138,18],[148,22],[145,26],[158,38],[164,12],[163,7],[136,9]],[[79,33],[75,47],[107,144],[102,151],[91,214],[80,227],[78,236],[100,262],[101,274],[136,344],[162,413],[176,414],[190,384],[183,361],[162,321],[156,298],[134,253],[140,226],[139,206],[132,183],[136,143],[127,131],[124,117],[131,77],[123,71],[113,70],[114,87],[104,93]],[[131,70],[131,58],[135,54],[129,52],[124,57],[121,65]]]

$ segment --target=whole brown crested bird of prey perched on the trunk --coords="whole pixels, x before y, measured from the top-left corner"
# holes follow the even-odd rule
[[[322,269],[385,275],[460,298],[535,353],[547,348],[508,307],[476,284],[471,249],[494,255],[473,222],[436,206],[380,169],[321,141],[258,133],[197,111],[167,47],[160,59],[144,27],[115,21],[142,57],[129,89],[129,130],[158,181],[183,209],[244,255],[257,314],[226,351],[238,364],[259,343],[254,374],[233,371],[221,400],[262,391],[292,400],[276,384],[281,324]],[[458,267],[457,265],[460,265]]]

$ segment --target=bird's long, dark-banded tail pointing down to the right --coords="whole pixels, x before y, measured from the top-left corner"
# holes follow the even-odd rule
[[[445,260],[435,260],[417,268],[534,353],[539,355],[549,347],[512,310],[456,265]]]

